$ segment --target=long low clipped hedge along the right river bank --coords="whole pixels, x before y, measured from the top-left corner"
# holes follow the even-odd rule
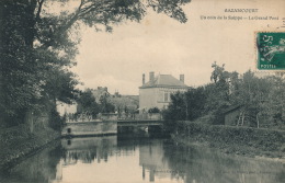
[[[206,141],[233,146],[254,145],[264,151],[281,151],[282,145],[285,144],[285,131],[266,128],[207,125],[183,121],[175,122],[175,130],[179,136],[193,139],[198,137]]]

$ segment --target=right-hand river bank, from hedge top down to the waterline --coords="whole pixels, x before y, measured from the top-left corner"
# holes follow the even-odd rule
[[[176,122],[178,142],[200,142],[226,153],[285,158],[285,131],[224,125]]]

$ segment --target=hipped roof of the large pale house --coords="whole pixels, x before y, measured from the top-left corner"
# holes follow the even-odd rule
[[[146,88],[179,88],[179,89],[187,89],[189,87],[184,84],[182,81],[172,77],[171,75],[158,75],[152,81],[148,81],[142,84],[139,89]]]

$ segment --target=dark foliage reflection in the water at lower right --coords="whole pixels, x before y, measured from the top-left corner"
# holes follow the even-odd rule
[[[164,144],[164,157],[172,173],[185,178],[185,183],[281,183],[285,181],[282,162],[231,157],[213,149]]]

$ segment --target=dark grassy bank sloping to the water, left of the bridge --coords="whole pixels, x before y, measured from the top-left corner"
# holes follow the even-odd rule
[[[25,125],[1,129],[0,169],[13,164],[59,137],[60,134],[52,128],[39,128],[34,133],[30,133]]]

